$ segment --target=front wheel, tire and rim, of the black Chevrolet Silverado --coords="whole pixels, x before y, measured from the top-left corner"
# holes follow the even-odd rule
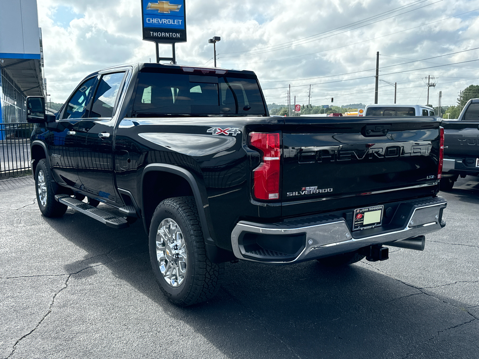
[[[38,208],[45,217],[61,217],[67,206],[55,200],[57,186],[52,182],[52,174],[45,158],[38,161],[35,169],[35,191]]]

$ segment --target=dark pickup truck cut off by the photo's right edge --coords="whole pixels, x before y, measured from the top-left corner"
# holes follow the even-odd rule
[[[443,120],[444,167],[441,190],[450,191],[461,176],[479,176],[479,99],[466,103],[457,120]]]

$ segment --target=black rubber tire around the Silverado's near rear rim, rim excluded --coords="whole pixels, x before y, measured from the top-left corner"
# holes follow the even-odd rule
[[[186,248],[186,274],[176,288],[161,273],[165,269],[160,269],[157,257],[157,234],[164,220],[173,220],[178,225]],[[149,253],[155,279],[171,303],[182,307],[201,303],[219,290],[225,265],[212,263],[206,257],[205,239],[193,197],[174,197],[160,202],[151,219]]]

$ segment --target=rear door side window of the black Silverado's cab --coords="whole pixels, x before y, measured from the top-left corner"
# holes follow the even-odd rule
[[[124,76],[125,72],[102,76],[91,107],[91,117],[113,117],[116,98]]]

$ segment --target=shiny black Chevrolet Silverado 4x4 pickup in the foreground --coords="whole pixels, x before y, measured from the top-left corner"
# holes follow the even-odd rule
[[[56,115],[44,101],[26,101],[40,211],[139,218],[178,305],[227,261],[384,260],[445,226],[438,118],[272,117],[251,71],[162,64],[88,75]]]

